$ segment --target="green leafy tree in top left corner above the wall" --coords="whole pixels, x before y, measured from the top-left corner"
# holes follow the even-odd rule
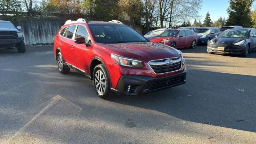
[[[6,14],[17,14],[21,10],[22,4],[19,0],[0,0],[0,11],[4,16]]]

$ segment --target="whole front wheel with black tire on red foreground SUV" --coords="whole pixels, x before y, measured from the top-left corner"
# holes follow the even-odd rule
[[[110,90],[110,78],[103,64],[95,66],[92,79],[97,95],[107,100],[112,95],[112,92]]]

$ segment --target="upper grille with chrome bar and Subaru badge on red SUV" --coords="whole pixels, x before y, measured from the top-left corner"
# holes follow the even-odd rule
[[[171,65],[167,65],[166,64],[167,60],[172,60],[173,63]],[[182,63],[181,58],[167,58],[163,60],[153,60],[148,64],[156,74],[162,74],[166,72],[173,72],[176,70],[180,70],[181,63]]]

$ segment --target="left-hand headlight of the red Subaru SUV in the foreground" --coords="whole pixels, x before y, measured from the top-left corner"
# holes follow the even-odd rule
[[[111,54],[111,58],[116,61],[117,64],[121,66],[128,66],[128,67],[143,67],[143,62],[139,60],[133,60],[130,58],[124,58],[115,54]]]

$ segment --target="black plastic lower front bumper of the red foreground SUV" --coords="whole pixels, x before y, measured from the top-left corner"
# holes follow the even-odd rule
[[[124,75],[120,78],[116,89],[112,92],[125,95],[138,95],[172,88],[186,83],[187,68],[182,73],[162,78],[152,78],[142,75]]]

